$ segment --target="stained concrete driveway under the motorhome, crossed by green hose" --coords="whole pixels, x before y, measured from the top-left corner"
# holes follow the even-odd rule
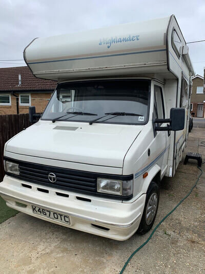
[[[204,129],[193,128],[186,149],[202,153],[203,160],[205,147],[200,141],[205,141],[204,133]],[[174,178],[163,179],[154,226],[188,193],[197,174],[192,160],[187,166],[181,162]],[[205,173],[197,188],[159,226],[124,273],[205,273],[204,202]],[[0,225],[0,272],[119,273],[150,233],[117,242],[19,213]]]

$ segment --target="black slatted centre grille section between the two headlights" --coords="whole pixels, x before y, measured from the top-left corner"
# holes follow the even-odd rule
[[[25,181],[34,181],[38,184],[49,185],[52,187],[63,187],[73,190],[83,190],[96,192],[96,178],[86,176],[87,174],[74,174],[72,170],[62,168],[52,168],[49,166],[40,165],[40,168],[33,163],[22,165],[19,164],[20,178]],[[56,181],[50,182],[48,179],[49,173],[56,175]],[[76,173],[76,171],[75,171]]]

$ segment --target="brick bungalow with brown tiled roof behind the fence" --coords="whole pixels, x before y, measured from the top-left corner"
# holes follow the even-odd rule
[[[0,68],[0,115],[28,113],[30,105],[42,113],[56,87],[37,79],[27,66]]]

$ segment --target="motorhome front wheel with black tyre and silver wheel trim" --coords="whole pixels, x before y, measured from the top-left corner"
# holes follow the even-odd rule
[[[159,205],[159,186],[152,181],[146,196],[145,208],[137,233],[145,234],[153,226]]]

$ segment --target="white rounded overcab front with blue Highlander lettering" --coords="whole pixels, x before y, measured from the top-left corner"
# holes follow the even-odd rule
[[[115,71],[109,74],[128,74],[129,69],[120,67],[166,63],[165,34],[169,19],[35,39],[25,49],[24,56],[33,74],[47,79],[65,79],[68,73],[74,78],[90,77],[95,70],[99,74],[105,68]]]

